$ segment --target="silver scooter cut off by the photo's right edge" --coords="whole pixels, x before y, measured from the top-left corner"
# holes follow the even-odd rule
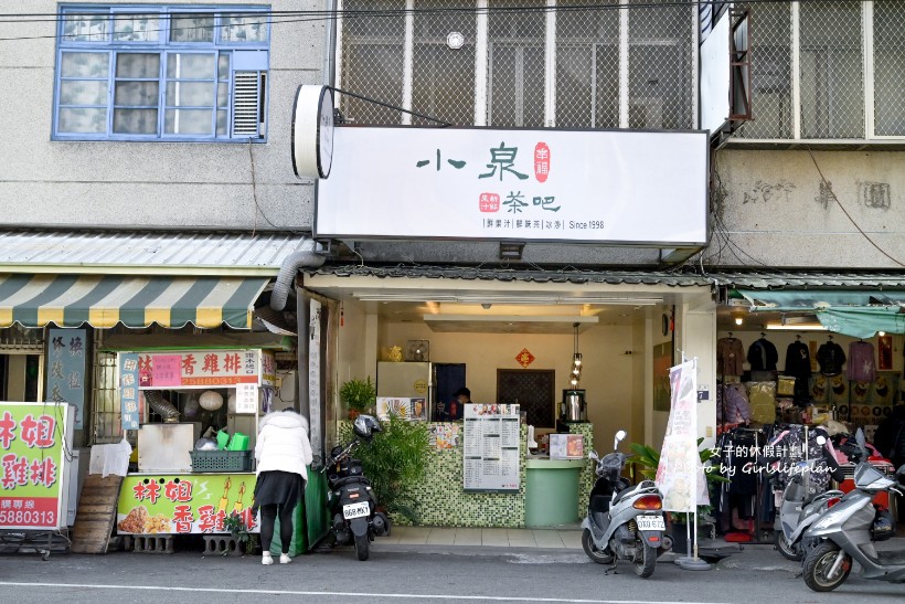
[[[854,469],[855,488],[837,505],[820,515],[805,533],[819,544],[805,558],[805,584],[816,592],[829,592],[849,577],[852,562],[858,561],[864,579],[905,580],[905,552],[877,552],[874,542],[895,536],[895,520],[888,510],[873,505],[877,492],[903,495],[905,465],[898,468],[896,483],[867,460],[864,433],[855,434],[861,459]],[[898,487],[898,488],[896,488]]]

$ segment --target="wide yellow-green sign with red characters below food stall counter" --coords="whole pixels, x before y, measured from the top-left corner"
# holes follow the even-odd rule
[[[230,532],[224,519],[238,513],[259,532],[252,516],[254,474],[129,475],[117,505],[119,534]]]

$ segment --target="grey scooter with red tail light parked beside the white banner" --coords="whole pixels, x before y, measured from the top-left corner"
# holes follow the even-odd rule
[[[657,485],[642,480],[632,487],[621,476],[628,456],[618,448],[625,437],[626,431],[617,432],[614,452],[603,458],[594,451],[588,455],[597,464],[597,480],[582,522],[582,547],[598,564],[615,568],[617,560],[627,560],[634,564],[635,574],[647,579],[671,541],[664,539],[663,498]]]

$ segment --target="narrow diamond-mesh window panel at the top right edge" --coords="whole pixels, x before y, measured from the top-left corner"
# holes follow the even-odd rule
[[[905,135],[905,2],[874,8],[874,134]]]

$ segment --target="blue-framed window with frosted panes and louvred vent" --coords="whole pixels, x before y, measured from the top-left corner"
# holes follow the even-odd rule
[[[265,141],[265,6],[62,4],[53,138]]]

